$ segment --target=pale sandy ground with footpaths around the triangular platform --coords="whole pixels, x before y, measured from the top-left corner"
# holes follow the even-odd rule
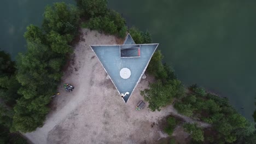
[[[177,114],[171,105],[160,112],[150,112],[147,106],[141,111],[135,110],[138,101],[143,100],[139,91],[148,87],[150,77],[138,84],[125,104],[113,83],[106,79],[106,72],[89,46],[117,44],[118,40],[88,29],[81,31],[83,38],[62,77],[62,83],[71,83],[74,91],[68,93],[61,85],[60,95],[53,98],[52,111],[43,127],[25,136],[38,144],[158,143],[167,137],[158,122],[170,113]]]

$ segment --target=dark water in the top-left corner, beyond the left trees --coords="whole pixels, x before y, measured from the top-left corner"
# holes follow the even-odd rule
[[[23,37],[30,24],[40,26],[44,8],[54,2],[75,4],[72,0],[2,0],[0,3],[0,49],[10,53],[12,58],[24,52],[26,41]]]

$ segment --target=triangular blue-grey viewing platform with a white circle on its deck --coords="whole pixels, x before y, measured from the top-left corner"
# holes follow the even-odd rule
[[[125,103],[141,80],[159,44],[135,44],[128,34],[123,45],[90,45]],[[129,94],[128,94],[129,93]]]

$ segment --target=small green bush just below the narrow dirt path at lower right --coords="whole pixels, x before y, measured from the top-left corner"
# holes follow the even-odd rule
[[[201,128],[197,127],[196,124],[186,123],[183,125],[183,127],[185,128],[185,131],[187,131],[191,135],[191,138],[193,140],[195,140],[195,141],[203,141],[204,140],[203,131]]]

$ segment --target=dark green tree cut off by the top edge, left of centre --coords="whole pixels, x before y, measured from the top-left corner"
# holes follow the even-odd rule
[[[92,17],[100,16],[107,11],[107,0],[78,0],[78,6],[85,14]]]

